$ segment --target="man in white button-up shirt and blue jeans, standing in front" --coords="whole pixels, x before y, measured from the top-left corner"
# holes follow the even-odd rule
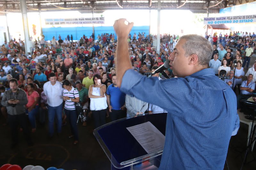
[[[49,120],[49,137],[53,136],[54,118],[57,118],[57,132],[61,132],[62,125],[62,84],[57,81],[54,73],[49,74],[49,80],[44,84],[44,94],[47,97],[48,120]]]

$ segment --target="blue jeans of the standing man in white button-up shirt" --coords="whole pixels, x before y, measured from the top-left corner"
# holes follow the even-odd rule
[[[51,107],[48,105],[48,121],[49,121],[49,136],[53,136],[53,123],[54,118],[57,118],[57,132],[61,132],[62,126],[62,103],[59,106]]]

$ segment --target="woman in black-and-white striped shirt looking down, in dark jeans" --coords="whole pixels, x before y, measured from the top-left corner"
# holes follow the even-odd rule
[[[69,136],[69,138],[74,137],[75,141],[73,144],[76,145],[78,143],[78,130],[76,126],[77,117],[75,102],[79,102],[79,93],[68,80],[64,80],[62,86],[64,88],[62,96],[65,101],[64,110],[71,128],[71,136]]]

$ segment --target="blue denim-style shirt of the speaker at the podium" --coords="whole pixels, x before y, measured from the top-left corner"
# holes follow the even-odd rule
[[[213,69],[185,78],[158,78],[134,70],[121,91],[168,111],[159,170],[223,169],[230,137],[239,128],[236,95]]]

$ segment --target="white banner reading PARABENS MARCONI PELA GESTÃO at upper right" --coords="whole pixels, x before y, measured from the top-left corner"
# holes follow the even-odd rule
[[[204,24],[236,24],[236,23],[252,23],[256,22],[256,15],[240,15],[229,17],[205,17]]]

